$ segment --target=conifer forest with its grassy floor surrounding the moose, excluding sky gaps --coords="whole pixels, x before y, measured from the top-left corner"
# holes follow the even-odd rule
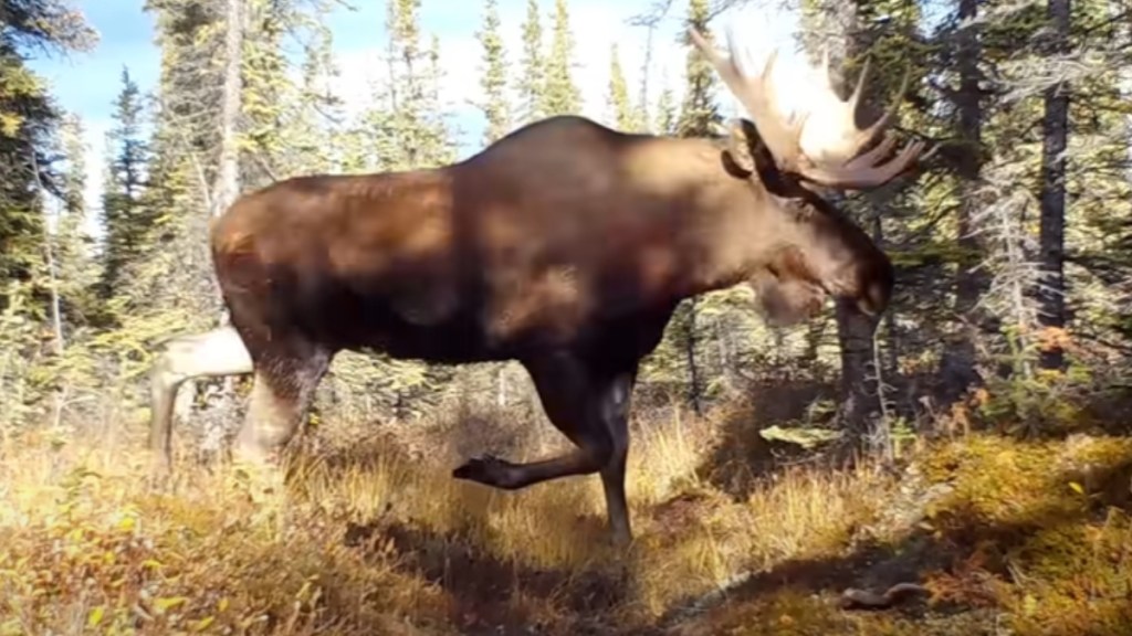
[[[642,68],[614,43],[581,69],[569,0],[474,0],[474,139],[434,2],[379,3],[358,110],[327,20],[352,1],[145,0],[160,74],[122,69],[89,173],[33,62],[105,43],[79,3],[0,0],[0,635],[1132,634],[1132,2],[655,0],[623,12]],[[451,476],[571,447],[514,361],[337,354],[267,495],[225,467],[250,377],[190,380],[148,479],[151,369],[226,320],[208,227],[238,197],[559,114],[718,137],[746,115],[687,28],[722,49],[771,8],[842,96],[869,65],[863,110],[898,102],[900,144],[932,148],[823,195],[894,295],[790,326],[747,285],[681,302],[632,395],[632,545],[595,475]]]

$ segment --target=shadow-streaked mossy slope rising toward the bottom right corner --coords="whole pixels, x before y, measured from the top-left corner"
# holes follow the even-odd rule
[[[989,636],[1010,624],[1019,635],[1132,634],[1132,454],[1055,471],[1048,483],[1081,492],[1019,501],[1000,519],[958,498],[895,541],[788,560],[694,612],[674,608],[651,634],[863,634],[883,626],[885,634]],[[876,613],[839,607],[848,587],[883,592],[908,582],[926,584],[932,598]]]

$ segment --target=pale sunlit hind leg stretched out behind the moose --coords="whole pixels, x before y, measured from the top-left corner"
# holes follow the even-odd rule
[[[250,373],[251,356],[231,326],[166,342],[149,370],[149,440],[155,469],[172,463],[172,421],[177,393],[186,380]]]

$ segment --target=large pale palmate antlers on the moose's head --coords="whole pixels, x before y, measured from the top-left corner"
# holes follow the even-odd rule
[[[885,138],[873,149],[860,154],[860,151],[883,134],[895,115],[897,104],[893,104],[880,119],[865,129],[857,128],[857,105],[864,92],[865,77],[868,75],[868,62],[861,70],[848,101],[841,100],[834,92],[829,70],[829,51],[822,55],[822,72],[825,76],[825,91],[821,103],[835,103],[835,106],[818,106],[786,118],[778,109],[777,87],[771,80],[771,72],[778,59],[778,49],[766,58],[762,74],[752,76],[744,68],[749,60],[739,57],[731,32],[728,32],[729,55],[717,51],[695,28],[688,35],[692,42],[715,68],[720,78],[731,91],[731,94],[743,104],[751,115],[758,136],[779,170],[823,186],[860,190],[880,186],[911,166],[924,144],[915,141],[906,146],[900,154],[882,164],[876,162],[887,155],[894,141]],[[738,65],[736,62],[739,62]],[[904,74],[899,94],[908,85],[908,74]],[[830,100],[829,97],[832,97]],[[811,132],[817,137],[817,144],[805,144],[808,152],[803,151],[803,135]],[[807,137],[808,138],[808,137]],[[817,146],[811,148],[809,146]]]

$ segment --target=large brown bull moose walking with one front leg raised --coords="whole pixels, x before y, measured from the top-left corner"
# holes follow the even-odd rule
[[[883,184],[923,151],[915,141],[893,155],[895,105],[856,124],[867,63],[843,100],[826,57],[827,98],[788,118],[777,49],[754,75],[732,34],[729,53],[689,37],[749,115],[724,135],[629,134],[559,115],[443,167],[294,177],[241,196],[209,231],[230,326],[173,340],[153,367],[158,470],[189,378],[254,373],[232,454],[273,465],[336,352],[515,360],[574,448],[530,463],[483,455],[453,478],[513,490],[599,473],[611,539],[631,542],[631,394],[677,304],[746,283],[778,324],[826,298],[883,312],[891,261],[820,191]]]

